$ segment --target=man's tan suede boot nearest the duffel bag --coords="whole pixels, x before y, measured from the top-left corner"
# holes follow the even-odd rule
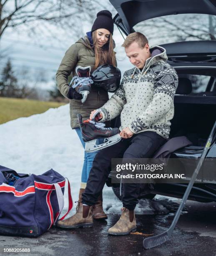
[[[60,228],[90,228],[93,226],[92,207],[83,205],[79,202],[79,206],[75,215],[66,220],[59,220],[57,226]]]

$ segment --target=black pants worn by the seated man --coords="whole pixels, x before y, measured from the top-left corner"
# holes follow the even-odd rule
[[[95,205],[103,190],[106,179],[111,171],[111,159],[123,158],[151,158],[154,152],[164,143],[166,139],[153,131],[145,131],[133,135],[129,139],[122,139],[113,146],[104,148],[98,152],[93,161],[92,169],[88,177],[83,203]],[[123,207],[134,210],[138,203],[140,184],[123,184]]]

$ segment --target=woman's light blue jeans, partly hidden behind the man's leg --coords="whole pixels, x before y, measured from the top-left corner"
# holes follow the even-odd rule
[[[80,142],[83,145],[83,148],[85,148],[85,142],[82,139],[80,128],[75,128],[74,130],[78,134],[78,136],[80,138]],[[104,139],[98,139],[96,144],[103,143],[103,140]],[[96,154],[98,152],[99,152],[99,150],[95,151],[95,152],[92,152],[92,153],[89,153],[89,152],[85,151],[85,153],[84,153],[83,170],[82,170],[82,176],[81,176],[81,188],[85,188],[86,187],[88,176],[89,176],[90,170],[91,170],[91,168],[93,166],[93,161],[94,161],[95,156],[96,156]]]

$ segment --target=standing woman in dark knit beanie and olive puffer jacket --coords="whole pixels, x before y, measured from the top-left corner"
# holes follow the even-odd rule
[[[70,99],[70,120],[71,127],[77,132],[83,147],[85,143],[81,138],[81,132],[78,124],[77,114],[83,116],[83,120],[89,118],[91,111],[100,108],[108,101],[108,92],[103,88],[91,87],[91,91],[84,103],[81,102],[82,95],[76,91],[77,87],[68,86],[68,76],[72,72],[75,75],[75,68],[91,67],[91,72],[102,64],[111,64],[116,66],[116,56],[113,51],[113,19],[108,10],[102,10],[97,14],[92,29],[87,36],[80,38],[75,44],[66,51],[60,67],[56,73],[56,81],[60,92]],[[97,152],[84,154],[84,163],[81,176],[80,192],[77,205],[77,212],[82,200],[82,194],[85,190],[89,172]],[[98,202],[93,207],[93,217],[95,219],[106,219],[107,215],[103,212],[102,194]]]

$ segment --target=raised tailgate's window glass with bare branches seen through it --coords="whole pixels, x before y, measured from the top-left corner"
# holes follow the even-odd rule
[[[216,16],[178,14],[152,18],[133,27],[143,33],[150,46],[179,41],[216,40]]]

